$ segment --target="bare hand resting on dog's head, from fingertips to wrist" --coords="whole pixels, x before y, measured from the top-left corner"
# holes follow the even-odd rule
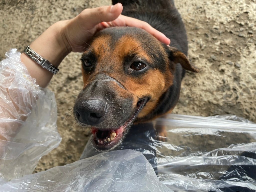
[[[77,17],[60,21],[61,36],[69,52],[83,52],[88,46],[87,42],[95,32],[108,27],[130,26],[142,28],[152,34],[159,41],[169,45],[170,40],[161,32],[141,20],[120,15],[122,4],[102,6],[83,10]]]

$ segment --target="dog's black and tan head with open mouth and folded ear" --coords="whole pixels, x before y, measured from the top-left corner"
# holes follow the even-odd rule
[[[100,31],[81,58],[84,88],[74,113],[90,125],[93,146],[111,150],[136,119],[144,119],[173,84],[175,63],[193,68],[184,54],[146,31],[113,27]]]

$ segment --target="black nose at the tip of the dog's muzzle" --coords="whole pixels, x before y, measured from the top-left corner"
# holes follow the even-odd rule
[[[105,103],[100,100],[83,100],[76,102],[74,113],[77,119],[87,125],[99,124],[106,113]]]

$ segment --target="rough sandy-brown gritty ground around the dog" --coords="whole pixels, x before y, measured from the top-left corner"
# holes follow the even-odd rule
[[[256,1],[176,0],[185,23],[190,61],[200,73],[187,72],[173,113],[211,116],[235,114],[256,122]],[[109,0],[1,0],[0,60],[10,48],[19,51],[59,20]],[[74,124],[73,102],[81,90],[80,54],[67,56],[49,89],[58,105],[62,141],[43,156],[35,172],[77,161],[90,131]]]

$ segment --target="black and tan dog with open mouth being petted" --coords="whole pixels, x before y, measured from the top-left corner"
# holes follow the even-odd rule
[[[112,2],[122,3],[123,15],[146,21],[171,44],[133,27],[107,28],[92,39],[81,58],[84,88],[74,113],[81,125],[91,126],[93,146],[101,151],[118,145],[133,123],[171,112],[184,69],[198,72],[186,57],[186,31],[172,0]]]

